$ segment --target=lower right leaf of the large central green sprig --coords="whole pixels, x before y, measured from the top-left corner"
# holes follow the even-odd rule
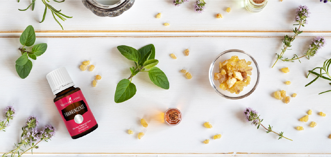
[[[155,85],[163,89],[169,89],[168,78],[166,77],[166,74],[158,67],[153,67],[150,69],[148,71],[148,76]]]

